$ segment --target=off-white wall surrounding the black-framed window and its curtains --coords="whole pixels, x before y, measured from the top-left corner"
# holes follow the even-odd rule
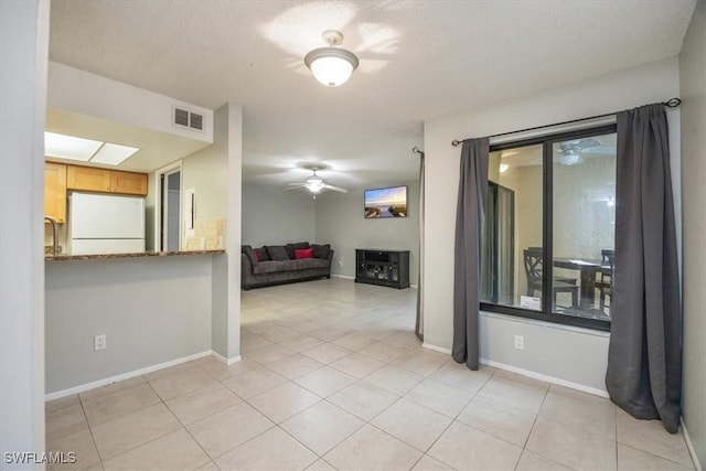
[[[639,67],[620,71],[573,86],[556,88],[524,99],[499,103],[467,113],[445,116],[425,122],[426,159],[426,233],[425,233],[425,343],[450,349],[452,343],[453,307],[453,237],[459,180],[460,147],[451,140],[482,137],[552,125],[570,119],[612,113],[648,103],[662,101],[678,96],[678,64],[670,58]],[[680,133],[678,110],[668,113],[670,138],[673,160],[674,192],[680,194]],[[677,199],[678,200],[678,199]],[[677,207],[677,226],[681,212]],[[617,313],[619,314],[619,313]],[[488,319],[481,336],[481,350],[495,361],[500,352],[488,350],[488,345],[510,345],[507,333],[496,319]],[[546,355],[536,361],[522,362],[503,356],[509,366],[522,367],[558,379],[567,379],[566,371],[582,370],[586,358],[605,372],[607,362],[606,342],[600,336],[586,338],[589,354],[577,362],[571,345],[555,344],[556,329],[526,329],[515,332],[525,335],[525,343],[554,345]],[[552,360],[550,362],[548,360]],[[581,375],[570,379],[586,387],[605,390],[601,378]]]

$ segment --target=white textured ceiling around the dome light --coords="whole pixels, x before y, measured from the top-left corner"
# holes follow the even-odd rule
[[[50,58],[207,108],[244,108],[244,179],[331,167],[345,186],[416,178],[425,119],[676,55],[695,0],[52,0]],[[338,29],[360,58],[303,65]]]

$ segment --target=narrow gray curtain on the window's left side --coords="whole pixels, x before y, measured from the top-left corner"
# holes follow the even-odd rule
[[[458,363],[478,370],[480,354],[481,251],[485,199],[488,195],[489,139],[467,139],[461,149],[461,179],[456,213],[453,257],[453,346]]]

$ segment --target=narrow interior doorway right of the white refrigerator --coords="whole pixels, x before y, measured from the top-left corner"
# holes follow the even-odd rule
[[[167,170],[160,178],[160,251],[181,250],[181,167]]]

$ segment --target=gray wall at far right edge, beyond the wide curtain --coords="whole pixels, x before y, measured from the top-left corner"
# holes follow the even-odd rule
[[[683,416],[706,465],[706,2],[700,0],[680,54],[682,95],[684,397]]]

